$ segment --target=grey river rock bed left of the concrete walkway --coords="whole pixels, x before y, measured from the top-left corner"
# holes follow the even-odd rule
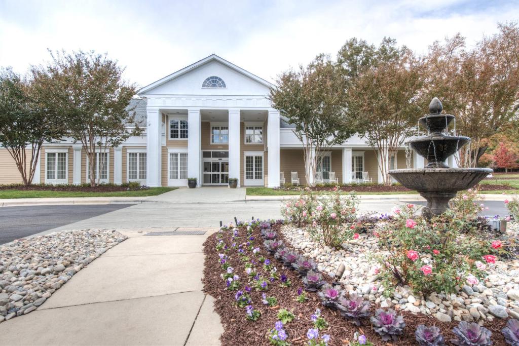
[[[115,229],[83,229],[0,245],[0,323],[36,310],[79,270],[127,238]]]

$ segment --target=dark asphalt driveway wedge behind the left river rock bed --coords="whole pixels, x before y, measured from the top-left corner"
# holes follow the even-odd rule
[[[0,208],[0,244],[80,220],[124,209],[131,204],[38,205]]]

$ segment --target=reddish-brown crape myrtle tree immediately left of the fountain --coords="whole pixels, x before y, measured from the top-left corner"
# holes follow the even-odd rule
[[[416,131],[423,62],[391,38],[378,47],[350,39],[339,50],[337,62],[349,111],[362,119],[359,135],[379,156],[379,183],[391,185],[388,171],[397,162],[398,149]]]

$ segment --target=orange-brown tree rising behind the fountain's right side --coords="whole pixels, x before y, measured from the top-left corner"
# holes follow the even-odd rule
[[[436,41],[426,57],[426,88],[456,115],[458,135],[469,136],[461,150],[460,167],[478,167],[485,139],[517,119],[519,109],[519,27],[499,24],[499,32],[468,49],[456,35]]]

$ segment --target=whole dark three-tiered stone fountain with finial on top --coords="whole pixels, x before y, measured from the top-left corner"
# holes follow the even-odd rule
[[[430,219],[448,209],[448,202],[456,192],[466,190],[492,173],[489,168],[449,168],[445,160],[470,143],[469,137],[449,136],[446,133],[453,115],[441,114],[442,103],[438,98],[429,104],[430,114],[419,119],[427,128],[427,136],[411,140],[411,147],[427,159],[425,168],[390,170],[389,174],[405,187],[417,190],[427,200],[422,214]]]

